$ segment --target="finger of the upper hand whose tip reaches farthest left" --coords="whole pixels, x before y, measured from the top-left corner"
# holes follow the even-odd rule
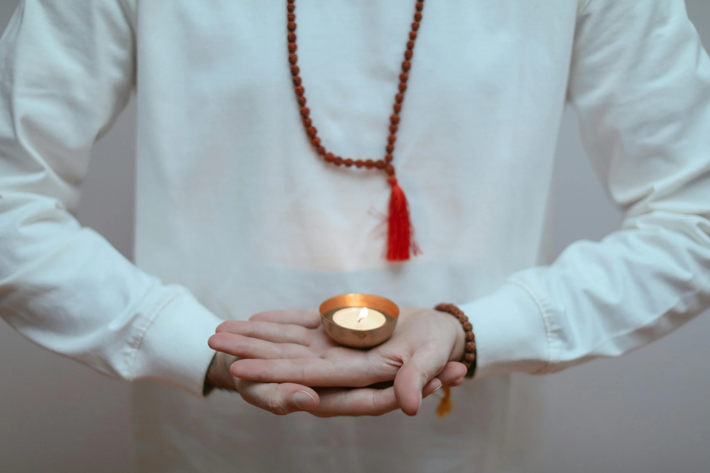
[[[207,339],[212,350],[229,353],[240,358],[305,358],[314,356],[304,345],[297,343],[273,343],[258,338],[245,337],[236,333],[219,332]]]

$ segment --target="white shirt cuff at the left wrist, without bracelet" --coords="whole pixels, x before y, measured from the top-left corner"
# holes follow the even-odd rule
[[[159,379],[202,396],[214,350],[207,339],[222,319],[177,286],[155,308],[156,315],[135,352],[136,379]]]

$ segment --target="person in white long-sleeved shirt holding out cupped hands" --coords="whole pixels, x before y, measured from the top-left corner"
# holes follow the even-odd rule
[[[141,471],[525,471],[535,385],[513,373],[621,355],[709,306],[710,62],[683,1],[424,3],[398,123],[412,1],[301,0],[299,69],[290,1],[24,0],[11,18],[0,314],[135,382]],[[73,216],[133,91],[135,265]],[[625,218],[540,265],[566,102]],[[320,154],[381,160],[391,124],[394,184]],[[420,252],[391,262],[395,186]],[[348,292],[403,307],[390,340],[323,337],[313,309]],[[473,380],[442,301],[471,321]],[[456,384],[437,418],[421,398]]]

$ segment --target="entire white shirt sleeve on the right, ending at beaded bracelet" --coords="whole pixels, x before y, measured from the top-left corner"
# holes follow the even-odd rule
[[[710,306],[710,61],[684,2],[588,0],[577,21],[569,102],[622,228],[462,306],[477,377],[621,355]]]

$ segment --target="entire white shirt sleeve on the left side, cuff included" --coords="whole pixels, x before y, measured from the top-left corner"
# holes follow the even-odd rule
[[[129,0],[25,0],[0,39],[0,316],[125,380],[202,394],[220,320],[73,213],[92,145],[129,99]]]

